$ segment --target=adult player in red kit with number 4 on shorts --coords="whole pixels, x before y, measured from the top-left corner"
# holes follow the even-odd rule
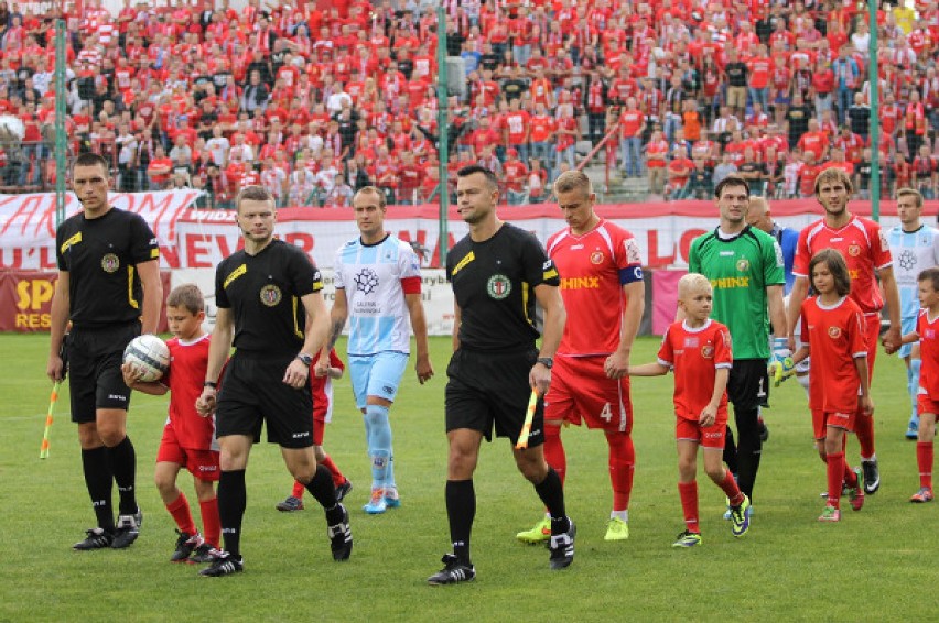
[[[544,458],[563,482],[566,457],[561,425],[583,422],[589,428],[603,429],[613,484],[605,539],[624,540],[629,537],[636,460],[626,370],[645,308],[639,248],[632,233],[594,212],[596,195],[584,173],[562,173],[554,194],[569,227],[548,239],[547,250],[563,275],[561,295],[571,321],[564,326],[544,400]],[[548,517],[517,535],[526,543],[550,536]]]

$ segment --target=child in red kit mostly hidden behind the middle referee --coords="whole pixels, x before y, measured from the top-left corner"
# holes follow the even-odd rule
[[[316,354],[313,365],[320,361],[323,353]],[[342,502],[343,498],[352,491],[352,481],[343,476],[339,467],[333,462],[332,457],[323,449],[323,433],[326,428],[326,423],[333,418],[333,379],[342,379],[346,365],[335,349],[330,350],[330,369],[326,374],[320,376],[320,370],[314,369],[316,374],[310,378],[310,392],[313,394],[313,455],[316,457],[316,462],[330,470],[333,477],[333,484],[336,485],[336,500]],[[303,492],[306,487],[299,480],[293,481],[293,491],[288,495],[287,500],[278,503],[277,510],[284,513],[291,511],[303,510]]]

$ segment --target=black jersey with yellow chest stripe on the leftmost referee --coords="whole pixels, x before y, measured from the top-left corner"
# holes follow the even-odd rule
[[[158,260],[160,245],[147,221],[111,208],[86,219],[79,212],[55,232],[58,270],[68,273],[69,317],[77,329],[138,321],[143,287],[137,264]]]

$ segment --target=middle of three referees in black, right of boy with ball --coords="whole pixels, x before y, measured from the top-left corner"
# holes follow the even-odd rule
[[[235,200],[245,248],[215,273],[218,314],[208,350],[205,387],[196,407],[216,413],[222,448],[218,515],[225,550],[201,571],[228,576],[242,570],[241,520],[247,502],[245,470],[251,445],[267,423],[268,441],[280,445],[290,473],[326,510],[333,558],[352,553],[345,507],[336,501],[330,471],[313,456],[313,397],[310,364],[330,330],[320,271],[303,251],[273,238],[274,199],[248,186]],[[219,374],[235,346],[236,353]]]

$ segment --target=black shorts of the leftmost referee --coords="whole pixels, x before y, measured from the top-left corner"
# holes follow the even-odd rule
[[[72,422],[95,422],[99,408],[130,407],[131,391],[123,383],[120,364],[123,349],[139,335],[140,323],[72,329],[67,353]]]

